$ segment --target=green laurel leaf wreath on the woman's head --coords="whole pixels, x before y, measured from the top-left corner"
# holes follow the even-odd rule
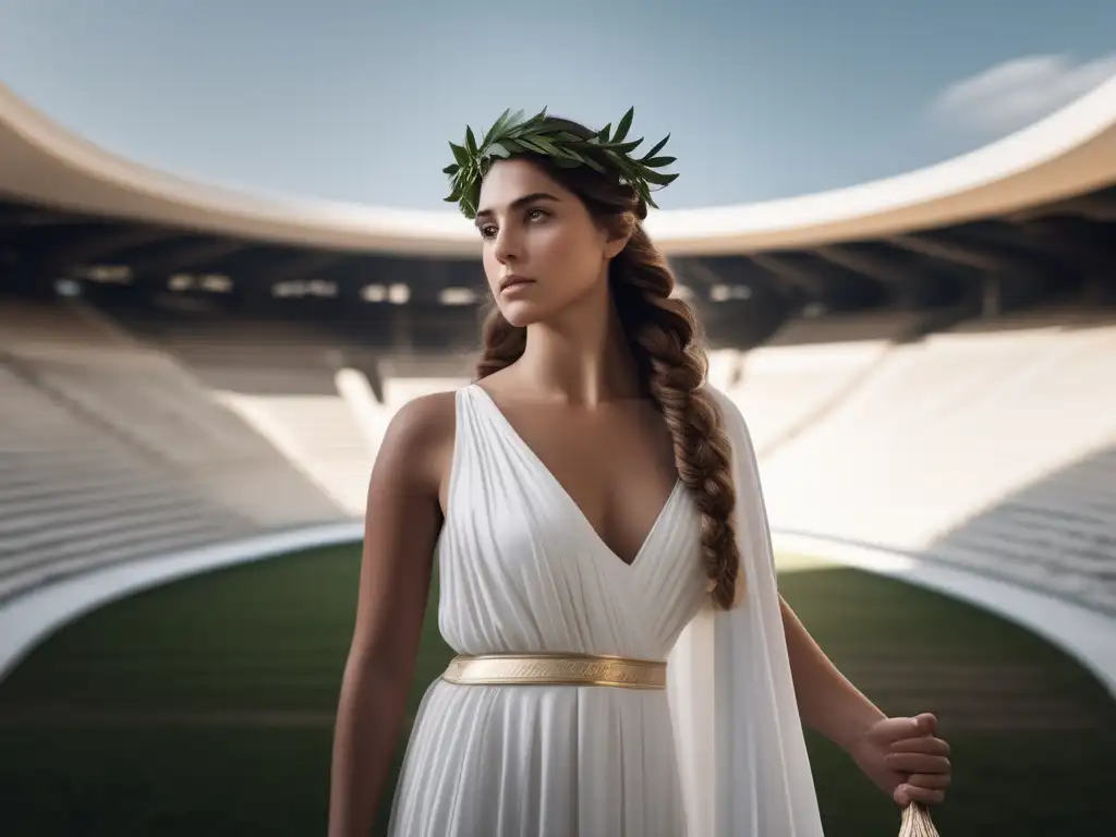
[[[473,219],[480,201],[481,180],[493,162],[514,154],[539,154],[564,169],[584,165],[602,174],[612,172],[632,186],[648,206],[658,209],[652,192],[670,185],[679,176],[656,171],[675,160],[655,156],[671,135],[663,137],[644,156],[633,157],[632,152],[643,144],[643,138],[627,140],[634,116],[635,108],[628,108],[616,124],[615,133],[610,133],[609,123],[586,138],[569,131],[561,121],[548,119],[546,108],[530,118],[523,118],[522,110],[512,113],[509,108],[484,133],[480,143],[471,127],[465,128],[463,144],[450,143],[454,162],[442,172],[450,176],[453,191],[445,200],[458,203],[465,218]]]

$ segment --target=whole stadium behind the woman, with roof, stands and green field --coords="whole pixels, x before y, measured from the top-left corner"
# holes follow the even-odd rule
[[[1116,833],[1116,79],[929,169],[647,229],[788,600],[956,742],[943,834]],[[185,181],[0,86],[0,830],[320,833],[368,474],[402,404],[470,378],[478,254],[453,213]],[[415,700],[448,655],[435,590]],[[827,833],[894,828],[810,745]]]

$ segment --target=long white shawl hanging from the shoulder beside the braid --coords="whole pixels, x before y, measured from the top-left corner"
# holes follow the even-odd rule
[[[819,837],[756,451],[737,405],[708,391],[732,443],[745,590],[703,607],[667,665],[687,837]]]

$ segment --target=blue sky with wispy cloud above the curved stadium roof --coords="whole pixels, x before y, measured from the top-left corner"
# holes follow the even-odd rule
[[[0,80],[141,162],[449,209],[446,141],[508,106],[672,134],[666,208],[969,151],[1116,73],[1116,3],[0,0]]]

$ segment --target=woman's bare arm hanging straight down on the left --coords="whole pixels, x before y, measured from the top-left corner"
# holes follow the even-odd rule
[[[356,624],[341,682],[329,795],[330,837],[366,837],[415,673],[441,529],[439,491],[453,444],[453,394],[392,420],[368,485]]]

